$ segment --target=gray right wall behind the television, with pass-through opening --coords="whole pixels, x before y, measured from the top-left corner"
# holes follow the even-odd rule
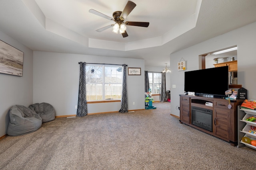
[[[201,62],[199,55],[234,45],[238,47],[238,84],[242,84],[243,88],[247,89],[248,99],[256,100],[256,22],[254,22],[170,55],[171,87],[172,84],[176,85],[176,88],[171,88],[171,114],[180,116],[179,110],[176,109],[176,106],[180,106],[179,94],[183,94],[184,91],[184,71],[176,69],[180,59],[183,57],[186,61],[186,71],[198,70]]]

